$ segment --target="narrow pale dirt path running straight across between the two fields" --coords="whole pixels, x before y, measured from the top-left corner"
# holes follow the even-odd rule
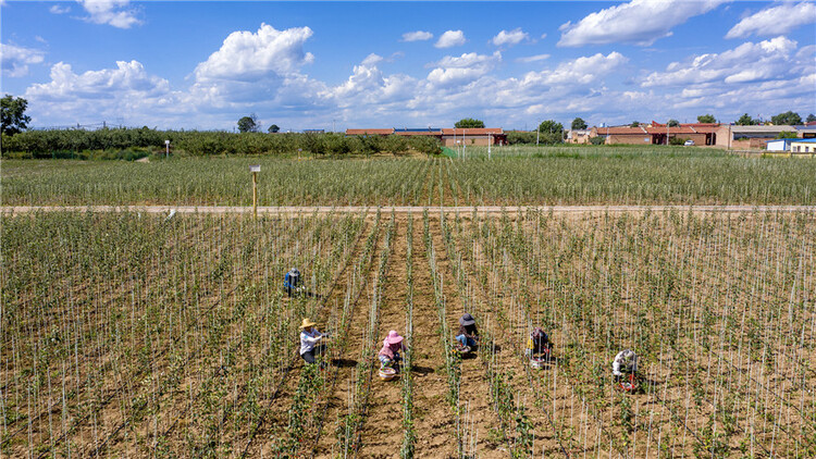
[[[527,211],[541,211],[554,213],[603,213],[603,212],[645,212],[645,211],[678,211],[678,212],[815,212],[816,206],[281,206],[259,207],[258,213],[262,215],[277,215],[289,213],[375,213],[380,209],[383,214],[412,213],[421,215],[425,209],[434,212],[444,210],[446,213],[459,212],[470,215],[474,211],[479,214],[489,213],[517,213]],[[0,214],[13,215],[20,213],[35,212],[145,212],[145,213],[251,213],[251,207],[240,206],[3,206]]]

